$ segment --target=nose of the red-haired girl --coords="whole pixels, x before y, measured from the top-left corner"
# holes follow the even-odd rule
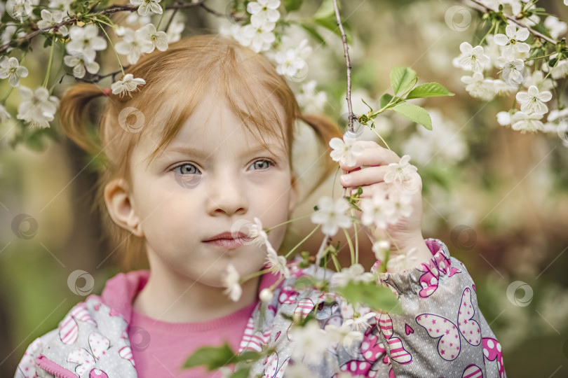
[[[246,214],[248,197],[243,183],[236,176],[229,174],[219,176],[208,190],[208,213],[211,216]]]

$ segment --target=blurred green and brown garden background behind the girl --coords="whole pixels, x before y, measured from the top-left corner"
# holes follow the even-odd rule
[[[320,2],[304,1],[287,17],[310,18]],[[227,3],[208,1],[220,13]],[[389,90],[389,71],[400,65],[417,71],[421,83],[437,81],[456,93],[417,102],[431,111],[433,131],[394,113],[380,116],[377,131],[398,155],[411,155],[419,168],[424,181],[424,237],[444,241],[468,267],[480,309],[503,346],[508,376],[568,377],[568,150],[555,134],[520,134],[499,126],[496,113],[510,109],[512,97],[483,102],[464,90],[464,72],[452,66],[452,59],[459,55],[461,42],[475,45],[483,34],[478,13],[471,8],[465,8],[471,25],[452,27],[446,20],[452,6],[463,5],[442,0],[343,1],[342,15],[353,38],[349,52],[354,110],[367,111],[361,98],[377,104]],[[560,0],[541,0],[539,6],[568,20],[568,6]],[[135,27],[128,25],[124,14],[113,20]],[[152,18],[154,25],[157,20]],[[201,8],[180,11],[175,20],[184,27],[182,36],[214,33],[230,25]],[[301,27],[287,31],[297,43],[309,38],[313,48],[306,58],[306,80],[291,85],[299,92],[302,84],[316,80],[325,99],[313,97],[311,111],[325,113],[344,127],[342,44],[327,29],[314,27],[325,44]],[[43,40],[36,40],[25,62],[29,76],[21,80],[27,87],[41,85],[45,77],[49,50],[42,47]],[[62,51],[55,54],[58,62]],[[110,49],[99,59],[107,62],[101,64],[102,73],[118,68]],[[58,68],[54,64],[52,80],[64,75],[56,72]],[[0,80],[2,97],[9,89],[6,81]],[[73,83],[72,76],[63,76],[55,95],[60,97]],[[109,87],[109,79],[100,85]],[[566,104],[566,93],[561,96]],[[6,103],[11,113],[19,101],[13,91]],[[57,123],[13,148],[9,141],[16,130],[14,120],[0,125],[1,377],[13,376],[26,346],[56,328],[84,299],[82,294],[100,293],[104,281],[121,270],[110,255],[113,246],[102,235],[99,220],[90,213],[96,179],[90,157],[60,136]],[[377,140],[372,133],[367,138]],[[292,216],[308,214],[320,195],[341,193],[335,176],[311,188],[322,153],[304,128],[298,134],[295,162],[305,200]],[[292,223],[281,250],[291,248],[312,228],[309,218]],[[320,240],[321,235],[313,235],[302,249],[317,251]],[[365,236],[360,243],[369,251]],[[368,265],[372,253],[366,256]],[[78,270],[87,275],[81,277]]]

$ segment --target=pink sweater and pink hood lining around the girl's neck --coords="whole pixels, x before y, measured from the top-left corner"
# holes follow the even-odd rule
[[[132,308],[135,296],[144,288],[149,275],[149,270],[117,274],[107,281],[101,294],[102,302],[118,309],[128,322],[128,337],[138,377],[221,377],[219,372],[207,372],[203,367],[181,370],[181,366],[201,346],[217,346],[228,342],[237,351],[247,321],[258,302],[210,321],[158,321]],[[276,279],[276,276],[264,274],[259,290],[271,286]]]

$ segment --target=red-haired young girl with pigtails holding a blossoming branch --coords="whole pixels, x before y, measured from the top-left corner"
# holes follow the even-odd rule
[[[264,228],[280,225],[299,202],[295,122],[313,127],[325,146],[342,132],[325,118],[302,115],[266,57],[221,36],[182,39],[126,73],[145,82],[131,96],[86,83],[71,87],[61,127],[104,162],[97,205],[119,250],[109,255],[133,262],[145,253],[150,269],[117,274],[101,295],[76,304],[57,329],[29,345],[15,377],[222,377],[182,365],[201,346],[224,342],[234,351],[274,347],[251,376],[506,376],[466,267],[442,241],[422,238],[420,191],[412,216],[392,234],[402,253],[415,248],[414,266],[381,274],[404,314],[358,309],[363,316],[355,316],[353,328],[360,342],[336,343],[316,360],[298,358],[292,315],[315,314],[318,328],[353,318],[339,298],[330,302],[295,286],[303,274],[323,269],[292,265],[282,282],[275,274],[257,276],[231,293],[234,300],[224,293],[226,272],[232,265],[241,277],[254,275],[266,264],[266,251],[238,225],[255,218]],[[93,138],[81,115],[100,94],[108,102]],[[356,143],[364,151],[352,167],[340,165],[342,185],[363,186],[368,197],[386,189],[384,168],[400,158],[374,142]],[[333,167],[328,159],[322,177]],[[276,250],[284,235],[285,226],[269,232]],[[261,311],[259,293],[270,287]]]

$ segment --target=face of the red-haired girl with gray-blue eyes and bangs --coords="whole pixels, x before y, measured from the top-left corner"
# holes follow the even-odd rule
[[[151,163],[146,158],[158,139],[142,138],[133,151],[130,195],[150,261],[161,265],[160,272],[221,287],[229,262],[241,276],[262,269],[265,246],[227,248],[205,240],[222,232],[246,234],[243,225],[254,217],[264,228],[288,220],[296,203],[288,155],[283,141],[264,139],[269,150],[212,94]],[[284,234],[285,226],[269,232],[274,248]]]

